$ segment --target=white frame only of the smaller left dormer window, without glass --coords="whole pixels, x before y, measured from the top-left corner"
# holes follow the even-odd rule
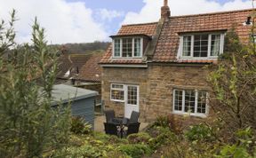
[[[115,38],[112,40],[112,45],[113,45],[113,49],[112,49],[112,57],[114,59],[120,59],[120,58],[124,58],[124,59],[140,59],[142,58],[142,54],[143,54],[143,38],[139,37],[139,36],[134,36],[134,37],[124,37],[124,38],[131,38],[132,39],[132,57],[123,57],[123,38]],[[134,56],[134,39],[135,38],[140,38],[140,56]],[[120,40],[120,56],[115,56],[115,40]]]

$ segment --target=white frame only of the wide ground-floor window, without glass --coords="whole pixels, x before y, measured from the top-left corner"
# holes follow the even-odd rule
[[[175,110],[175,94],[176,91],[182,91],[182,110]],[[199,117],[206,117],[209,114],[209,92],[206,91],[206,107],[205,107],[205,114],[197,113],[197,102],[198,102],[198,90],[191,90],[195,91],[195,113],[188,113],[185,112],[185,91],[189,90],[181,90],[181,89],[174,89],[173,90],[173,100],[172,100],[172,113],[177,115],[194,115]]]

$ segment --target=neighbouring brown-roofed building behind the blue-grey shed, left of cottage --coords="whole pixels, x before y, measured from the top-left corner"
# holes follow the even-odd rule
[[[58,59],[59,73],[56,84],[67,84],[87,90],[98,91],[97,104],[101,103],[101,70],[103,52],[62,54]]]

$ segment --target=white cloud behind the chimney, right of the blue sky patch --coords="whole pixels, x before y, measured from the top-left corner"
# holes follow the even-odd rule
[[[143,0],[143,2],[145,5],[140,12],[128,12],[122,24],[152,22],[160,19],[164,0]],[[209,0],[169,0],[169,6],[174,16],[252,8],[252,0],[235,0],[225,4]]]

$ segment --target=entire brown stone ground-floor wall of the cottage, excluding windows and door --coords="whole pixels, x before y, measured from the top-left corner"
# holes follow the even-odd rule
[[[172,115],[173,89],[209,91],[206,82],[209,71],[203,66],[105,67],[102,99],[107,109],[115,109],[118,115],[124,115],[124,103],[110,101],[110,83],[140,85],[140,119],[152,121],[157,115]]]

